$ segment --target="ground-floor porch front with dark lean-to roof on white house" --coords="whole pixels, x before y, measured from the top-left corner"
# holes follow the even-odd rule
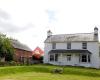
[[[51,50],[49,52],[50,64],[91,66],[91,52],[88,50]]]

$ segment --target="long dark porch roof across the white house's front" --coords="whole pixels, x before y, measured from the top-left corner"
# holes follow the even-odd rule
[[[66,50],[66,49],[56,49],[56,50],[51,50],[49,53],[86,53],[86,54],[91,54],[90,51],[88,50],[76,50],[76,49],[71,49],[71,50]]]

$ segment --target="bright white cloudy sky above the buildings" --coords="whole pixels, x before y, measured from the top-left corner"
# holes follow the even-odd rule
[[[0,0],[0,32],[32,50],[53,34],[100,29],[100,0]],[[100,33],[100,31],[99,31]]]

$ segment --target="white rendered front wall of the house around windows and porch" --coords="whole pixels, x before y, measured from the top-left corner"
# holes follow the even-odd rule
[[[67,43],[56,43],[56,49],[67,49]],[[82,49],[82,42],[72,42],[71,43],[71,49]],[[91,54],[91,63],[79,63],[79,57],[76,55],[72,56],[72,61],[70,64],[75,65],[78,64],[80,66],[86,66],[86,67],[95,67],[99,68],[100,67],[100,57],[99,57],[99,44],[98,42],[87,42],[87,49],[90,51]],[[48,63],[48,52],[52,50],[52,44],[51,43],[46,43],[45,44],[45,54],[44,54],[44,63]],[[63,56],[62,58],[62,64],[67,65],[67,63],[64,62],[65,58]],[[52,63],[52,64],[57,64]]]

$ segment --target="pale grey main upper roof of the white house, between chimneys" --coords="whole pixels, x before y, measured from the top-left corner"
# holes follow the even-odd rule
[[[72,42],[72,41],[95,41],[93,33],[77,33],[77,34],[59,34],[52,35],[45,40],[50,42]]]

